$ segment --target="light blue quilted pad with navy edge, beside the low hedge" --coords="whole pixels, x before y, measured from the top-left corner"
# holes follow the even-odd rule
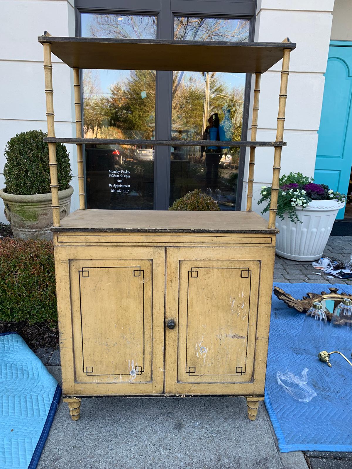
[[[0,469],[35,469],[61,388],[15,333],[0,334]]]

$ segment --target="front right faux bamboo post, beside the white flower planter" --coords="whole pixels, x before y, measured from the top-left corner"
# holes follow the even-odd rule
[[[289,42],[286,39],[283,42]],[[285,123],[285,108],[287,98],[287,81],[289,77],[290,65],[290,52],[291,49],[283,49],[283,66],[281,69],[281,84],[279,95],[279,112],[277,116],[276,128],[276,142],[283,140],[283,126]],[[275,219],[277,212],[277,197],[279,192],[279,179],[280,179],[280,165],[281,165],[281,151],[282,147],[275,147],[274,150],[274,166],[273,166],[273,182],[271,185],[271,200],[269,209],[269,224],[268,228],[275,228]]]

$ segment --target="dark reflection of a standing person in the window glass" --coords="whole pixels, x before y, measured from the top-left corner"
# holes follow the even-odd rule
[[[209,125],[204,131],[202,140],[219,140],[219,116],[218,113],[212,114],[208,119]],[[221,160],[221,147],[209,145],[201,147],[200,152],[206,154],[206,188],[210,187],[214,192],[218,186],[219,163]]]

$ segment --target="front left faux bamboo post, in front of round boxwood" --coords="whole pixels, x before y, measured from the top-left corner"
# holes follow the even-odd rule
[[[49,33],[45,33],[50,36]],[[51,44],[45,42],[44,48],[44,73],[45,73],[45,95],[46,95],[46,121],[48,126],[48,137],[55,137],[54,131],[54,101],[53,101],[53,77],[51,64]],[[51,206],[53,209],[53,226],[60,227],[60,205],[59,205],[59,183],[57,179],[56,144],[48,143]]]

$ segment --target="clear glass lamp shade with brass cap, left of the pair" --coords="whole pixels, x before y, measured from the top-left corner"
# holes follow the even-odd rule
[[[304,319],[298,339],[298,349],[307,355],[317,356],[327,347],[327,317],[322,304],[314,302]]]

